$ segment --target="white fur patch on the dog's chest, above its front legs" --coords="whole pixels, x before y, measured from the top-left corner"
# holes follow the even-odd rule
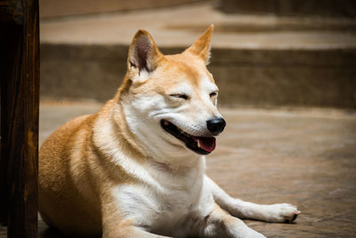
[[[180,236],[189,226],[187,221],[206,216],[214,207],[212,194],[204,183],[204,168],[180,176],[165,172],[146,175],[157,183],[117,185],[113,191],[117,209],[138,226],[158,234]]]

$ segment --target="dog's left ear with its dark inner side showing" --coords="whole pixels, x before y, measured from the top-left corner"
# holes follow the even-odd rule
[[[150,33],[140,29],[128,50],[127,71],[130,78],[133,81],[145,81],[163,58]]]

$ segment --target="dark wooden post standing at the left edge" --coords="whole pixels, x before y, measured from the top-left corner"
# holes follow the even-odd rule
[[[8,237],[37,237],[38,0],[0,1],[0,221]]]

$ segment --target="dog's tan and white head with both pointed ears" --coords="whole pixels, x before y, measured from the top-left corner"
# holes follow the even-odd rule
[[[121,87],[127,124],[155,152],[208,154],[225,127],[216,109],[218,87],[206,69],[213,25],[183,53],[163,55],[139,30],[130,45]]]

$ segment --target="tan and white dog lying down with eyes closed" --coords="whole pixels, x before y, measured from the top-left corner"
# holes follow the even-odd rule
[[[204,155],[225,127],[206,70],[212,33],[174,55],[136,33],[115,97],[42,145],[39,208],[48,225],[72,237],[264,237],[239,218],[295,219],[295,206],[232,198],[205,175]]]

